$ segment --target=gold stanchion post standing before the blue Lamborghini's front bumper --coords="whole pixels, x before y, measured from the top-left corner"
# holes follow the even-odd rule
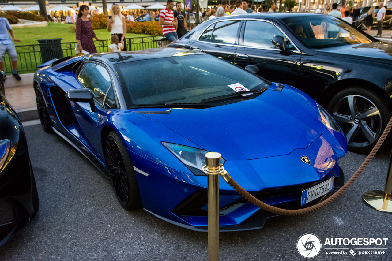
[[[224,170],[221,156],[218,152],[206,153],[203,167],[207,174],[209,261],[219,261],[219,174]]]

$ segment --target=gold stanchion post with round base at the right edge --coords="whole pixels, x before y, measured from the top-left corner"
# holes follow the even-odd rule
[[[387,181],[385,182],[384,191],[382,190],[371,190],[363,194],[362,200],[371,208],[376,210],[392,213],[392,151],[389,159]]]

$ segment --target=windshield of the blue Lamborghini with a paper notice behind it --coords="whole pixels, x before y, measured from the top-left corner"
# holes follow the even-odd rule
[[[201,101],[205,106],[206,99],[236,91],[255,91],[271,85],[267,80],[214,56],[193,53],[117,63],[115,68],[125,98],[129,100],[131,106],[167,103],[201,104]],[[254,97],[250,94],[249,96]],[[238,98],[238,96],[232,97]]]

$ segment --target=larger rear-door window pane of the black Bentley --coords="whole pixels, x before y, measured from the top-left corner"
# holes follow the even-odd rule
[[[235,44],[240,20],[217,22],[212,33],[211,42]]]

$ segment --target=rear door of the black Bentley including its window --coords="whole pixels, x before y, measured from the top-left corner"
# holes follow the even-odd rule
[[[191,49],[212,54],[229,62],[234,61],[241,22],[239,19],[233,19],[211,24],[191,45]]]

